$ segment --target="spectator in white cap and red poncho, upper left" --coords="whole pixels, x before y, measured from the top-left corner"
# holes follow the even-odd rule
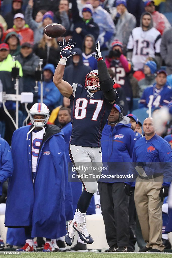
[[[15,31],[18,34],[20,45],[24,42],[34,42],[34,32],[25,24],[25,16],[22,13],[16,13],[14,15],[14,26],[4,33],[3,39],[11,31]]]

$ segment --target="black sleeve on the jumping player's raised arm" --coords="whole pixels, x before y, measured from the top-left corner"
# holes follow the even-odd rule
[[[114,81],[111,78],[105,61],[99,60],[98,61],[98,75],[99,75],[99,84],[100,90],[103,91],[103,95],[109,102],[116,101],[118,99],[118,93],[113,88]]]

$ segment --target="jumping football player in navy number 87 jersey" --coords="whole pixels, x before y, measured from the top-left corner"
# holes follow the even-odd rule
[[[113,88],[114,81],[101,56],[99,41],[96,43],[96,54],[94,55],[98,61],[98,70],[93,70],[86,75],[85,85],[69,84],[62,79],[67,59],[77,54],[71,52],[75,45],[75,42],[71,44],[71,41],[72,39],[69,39],[67,46],[65,39],[63,44],[59,42],[61,59],[53,77],[53,82],[58,90],[71,101],[72,136],[69,142],[69,155],[75,167],[79,165],[87,166],[88,164],[102,166],[101,132],[112,106],[118,99],[118,94]],[[78,175],[83,174],[81,170],[76,172]],[[88,178],[92,173],[89,170],[84,171]],[[97,191],[97,181],[90,182],[89,179],[81,181],[83,191],[74,218],[67,224],[65,242],[69,246],[73,244],[76,231],[85,243],[93,243],[93,239],[86,228],[85,214],[91,197]]]

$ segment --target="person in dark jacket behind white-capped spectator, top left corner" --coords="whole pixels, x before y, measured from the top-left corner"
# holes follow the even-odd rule
[[[11,29],[13,27],[13,20],[14,15],[16,13],[23,13],[21,7],[22,7],[23,1],[22,0],[13,0],[12,1],[12,11],[5,14],[4,19],[7,23],[7,29]]]

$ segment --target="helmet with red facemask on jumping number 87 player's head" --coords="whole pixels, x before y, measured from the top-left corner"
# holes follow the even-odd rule
[[[91,76],[99,77],[98,70],[92,70],[85,76],[85,88],[89,91],[94,91],[94,90],[100,91],[99,80],[95,78],[90,78]],[[96,82],[96,85],[94,85],[93,82]]]

